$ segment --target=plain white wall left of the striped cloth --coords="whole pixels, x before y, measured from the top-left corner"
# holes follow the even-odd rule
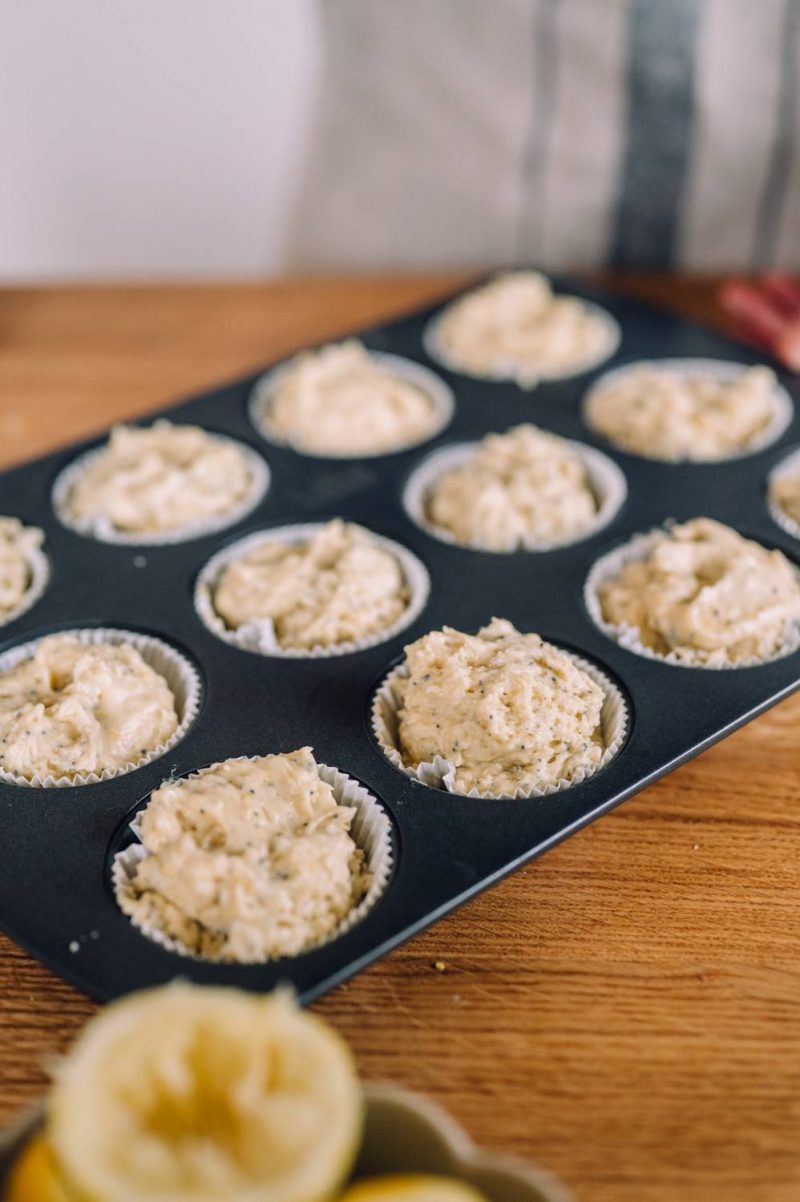
[[[0,0],[0,279],[280,268],[314,0]]]

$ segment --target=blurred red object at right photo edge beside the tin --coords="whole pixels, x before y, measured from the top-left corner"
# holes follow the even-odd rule
[[[720,303],[733,319],[732,333],[800,371],[800,286],[790,276],[770,272],[759,280],[727,280]]]

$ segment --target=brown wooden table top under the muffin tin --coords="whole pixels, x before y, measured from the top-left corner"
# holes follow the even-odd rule
[[[0,292],[2,464],[452,278]],[[717,320],[714,281],[615,276]],[[335,990],[366,1076],[581,1202],[800,1198],[800,697]],[[444,968],[436,968],[442,962]],[[0,1121],[94,1006],[0,939]]]

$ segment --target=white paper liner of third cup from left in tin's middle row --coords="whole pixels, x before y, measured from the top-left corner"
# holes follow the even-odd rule
[[[447,542],[453,547],[462,547],[467,551],[484,551],[492,554],[507,555],[515,551],[543,552],[555,551],[557,547],[568,547],[577,542],[591,538],[607,526],[619,513],[628,493],[625,474],[608,456],[585,442],[574,442],[571,439],[563,440],[569,450],[578,456],[586,471],[586,477],[592,493],[598,502],[597,513],[592,520],[583,526],[571,537],[553,538],[549,542],[537,542],[533,538],[520,540],[513,547],[489,547],[480,542],[461,542],[443,526],[436,525],[428,514],[428,502],[436,482],[454,468],[461,468],[476,454],[480,442],[455,442],[452,446],[441,447],[432,451],[422,464],[411,474],[402,493],[402,504],[411,520],[425,530],[426,534]]]

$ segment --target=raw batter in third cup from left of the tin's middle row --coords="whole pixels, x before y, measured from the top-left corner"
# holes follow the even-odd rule
[[[428,499],[430,522],[459,542],[513,551],[578,536],[597,513],[586,469],[565,439],[536,426],[488,434]]]

